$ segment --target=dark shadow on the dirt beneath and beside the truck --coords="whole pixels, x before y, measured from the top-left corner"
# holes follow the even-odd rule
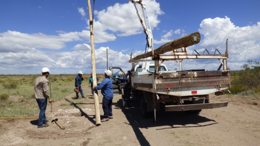
[[[184,111],[178,112],[156,112],[156,122],[153,123],[154,113],[151,114],[150,118],[143,118],[140,111],[140,106],[138,101],[134,98],[130,98],[131,108],[124,109],[122,104],[122,99],[119,99],[117,103],[114,103],[116,109],[122,109],[122,112],[126,116],[129,124],[132,126],[137,139],[141,146],[150,146],[149,141],[146,140],[143,133],[140,131],[140,128],[149,127],[158,127],[156,130],[166,129],[164,126],[168,126],[167,128],[185,128],[185,127],[203,127],[209,126],[213,124],[217,124],[215,120],[208,119],[206,117],[202,117],[199,114],[186,114]],[[211,124],[203,124],[205,122],[213,121]],[[128,124],[128,123],[126,123]],[[194,125],[194,126],[186,126],[186,125]],[[163,127],[163,128],[160,128]]]

